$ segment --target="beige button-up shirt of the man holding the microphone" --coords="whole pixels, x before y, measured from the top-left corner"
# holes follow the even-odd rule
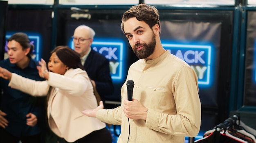
[[[135,83],[133,98],[148,108],[147,119],[132,120],[123,112],[127,99],[126,82],[121,88],[121,106],[102,109],[97,118],[121,125],[118,143],[184,143],[185,137],[195,137],[200,130],[201,103],[198,78],[193,69],[170,52],[153,60],[133,63],[127,80]],[[126,81],[127,81],[126,80]]]

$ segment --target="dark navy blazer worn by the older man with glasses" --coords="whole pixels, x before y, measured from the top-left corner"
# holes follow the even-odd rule
[[[102,54],[91,50],[83,67],[89,78],[95,81],[96,89],[101,96],[101,100],[104,101],[106,95],[111,95],[114,92],[108,59]]]

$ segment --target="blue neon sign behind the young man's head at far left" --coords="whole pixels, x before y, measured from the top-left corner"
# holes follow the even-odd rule
[[[13,35],[16,32],[7,32],[7,34],[5,35],[5,39],[6,39],[6,45],[4,47],[5,52],[7,52],[8,48],[7,48],[7,39],[11,37],[11,35]],[[34,45],[34,50],[32,51],[32,58],[36,59],[37,61],[40,60],[41,55],[40,55],[40,50],[41,50],[41,46],[40,46],[40,40],[41,40],[41,36],[40,34],[36,33],[36,32],[25,32],[27,34],[27,36],[29,37],[29,41],[31,44]]]

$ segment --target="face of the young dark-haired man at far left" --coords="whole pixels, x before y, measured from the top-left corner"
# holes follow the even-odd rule
[[[22,50],[20,43],[15,40],[9,41],[7,47],[7,54],[12,64],[22,62],[29,53],[29,48]]]

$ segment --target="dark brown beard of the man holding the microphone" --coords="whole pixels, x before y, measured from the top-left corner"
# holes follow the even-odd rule
[[[147,58],[148,56],[150,56],[151,54],[153,54],[153,52],[155,51],[155,45],[156,45],[156,40],[155,40],[155,35],[153,33],[151,42],[146,44],[146,43],[137,43],[134,45],[134,47],[132,48],[134,54],[142,59],[142,58]],[[136,48],[138,46],[143,46],[143,48],[141,50],[137,50]]]

